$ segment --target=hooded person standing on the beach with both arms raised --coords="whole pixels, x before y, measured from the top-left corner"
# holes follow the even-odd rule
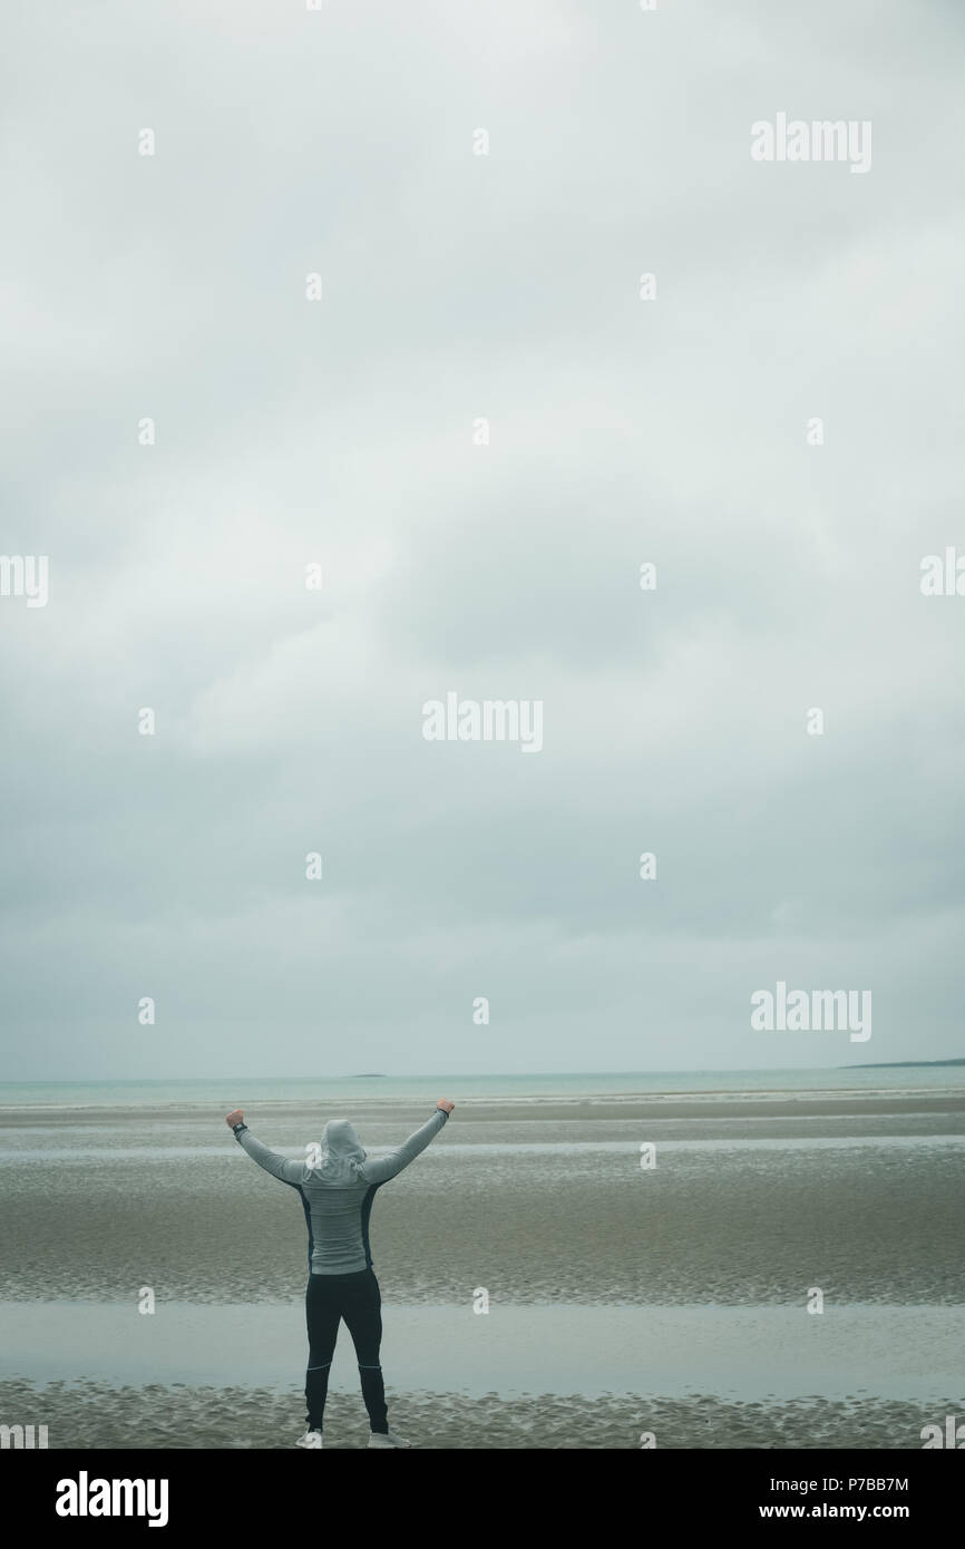
[[[305,1318],[308,1323],[308,1371],[305,1403],[308,1430],[299,1447],[322,1445],[322,1417],[328,1394],[328,1371],[335,1355],[339,1323],[345,1320],[355,1345],[362,1399],[369,1411],[370,1447],[410,1447],[389,1430],[386,1388],[379,1363],[383,1338],[381,1292],[372,1269],[369,1247],[369,1216],[376,1188],[397,1177],[403,1168],[424,1151],[440,1132],[455,1108],[440,1098],[432,1118],[381,1162],[370,1162],[347,1118],[331,1118],[325,1125],[321,1159],[287,1162],[251,1134],[240,1108],[228,1114],[225,1123],[248,1156],[282,1183],[297,1190],[308,1227],[308,1289]]]

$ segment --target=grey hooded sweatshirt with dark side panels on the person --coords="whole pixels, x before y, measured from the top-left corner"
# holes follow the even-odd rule
[[[308,1227],[308,1264],[313,1275],[355,1275],[372,1269],[369,1216],[376,1188],[415,1162],[420,1151],[448,1120],[445,1108],[387,1157],[370,1162],[344,1118],[325,1125],[322,1157],[318,1166],[288,1162],[256,1140],[248,1125],[237,1125],[235,1140],[249,1157],[282,1183],[297,1190]]]

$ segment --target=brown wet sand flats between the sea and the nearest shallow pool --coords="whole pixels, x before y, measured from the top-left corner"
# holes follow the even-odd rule
[[[458,1303],[485,1286],[516,1303],[796,1304],[819,1286],[838,1303],[960,1304],[962,1100],[869,1101],[821,1098],[813,1114],[798,1100],[767,1114],[702,1101],[689,1117],[663,1103],[547,1104],[539,1118],[468,1108],[379,1190],[383,1295]],[[421,1117],[358,1121],[375,1149]],[[118,1301],[152,1286],[180,1301],[287,1301],[304,1286],[300,1202],[218,1115],[29,1118],[5,1114],[0,1128],[0,1298]],[[249,1121],[304,1156],[319,1115],[276,1104]],[[651,1171],[643,1142],[657,1146]]]

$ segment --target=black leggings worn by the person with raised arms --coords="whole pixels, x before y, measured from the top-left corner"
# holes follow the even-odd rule
[[[328,1396],[328,1372],[335,1355],[335,1341],[341,1320],[345,1320],[362,1383],[362,1399],[369,1410],[373,1431],[389,1433],[386,1411],[386,1388],[379,1366],[383,1340],[383,1298],[375,1272],[361,1269],[355,1275],[310,1275],[305,1292],[305,1320],[308,1323],[308,1371],[305,1374],[305,1403],[308,1405],[308,1430],[322,1428],[325,1397]]]

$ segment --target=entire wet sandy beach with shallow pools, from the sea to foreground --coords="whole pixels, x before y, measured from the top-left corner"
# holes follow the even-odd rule
[[[376,1149],[423,1112],[355,1117]],[[297,1196],[191,1104],[2,1120],[0,1417],[51,1447],[291,1445]],[[319,1114],[248,1121],[299,1156]],[[423,1447],[920,1447],[963,1406],[963,1185],[957,1089],[466,1104],[372,1214],[393,1424]],[[353,1383],[342,1332],[327,1445],[364,1442]]]

